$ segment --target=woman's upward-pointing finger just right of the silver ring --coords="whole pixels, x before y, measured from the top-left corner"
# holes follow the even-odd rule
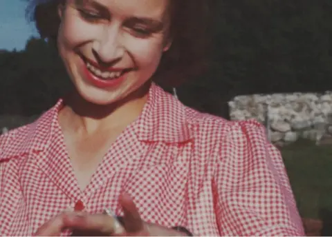
[[[144,231],[144,222],[140,218],[140,214],[138,213],[138,209],[136,208],[135,203],[133,203],[132,198],[128,194],[122,194],[119,201],[124,212],[124,229],[129,233]]]

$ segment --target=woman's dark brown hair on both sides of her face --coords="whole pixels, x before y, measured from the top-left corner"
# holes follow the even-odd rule
[[[27,17],[42,38],[55,41],[60,19],[57,6],[66,0],[29,0]],[[201,74],[208,66],[211,45],[211,0],[169,0],[172,46],[163,54],[156,71],[157,82],[180,85]]]

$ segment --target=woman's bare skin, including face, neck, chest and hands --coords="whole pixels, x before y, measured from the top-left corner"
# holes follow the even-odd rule
[[[168,1],[67,0],[59,6],[59,54],[76,89],[59,112],[59,125],[82,190],[147,101],[151,76],[171,45]],[[183,235],[145,223],[127,194],[119,203],[124,211],[120,236]],[[59,235],[64,228],[113,235],[113,222],[103,214],[66,212],[39,227],[35,235]]]

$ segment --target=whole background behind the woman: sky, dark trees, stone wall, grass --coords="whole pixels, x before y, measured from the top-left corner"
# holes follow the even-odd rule
[[[284,156],[307,234],[331,236],[332,1],[211,1],[208,71],[165,90],[196,110],[263,123]],[[2,132],[34,121],[71,88],[26,6],[0,1]]]

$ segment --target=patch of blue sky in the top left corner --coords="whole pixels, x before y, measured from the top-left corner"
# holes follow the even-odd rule
[[[0,49],[23,50],[26,40],[37,35],[25,19],[26,0],[0,0]]]

